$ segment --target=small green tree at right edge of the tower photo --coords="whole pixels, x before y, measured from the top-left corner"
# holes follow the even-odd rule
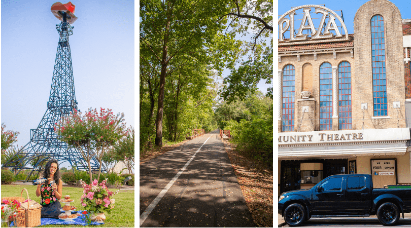
[[[127,132],[129,134],[114,145],[114,154],[118,161],[122,161],[127,166],[129,173],[133,173],[131,169],[134,168],[134,128],[130,127]]]

